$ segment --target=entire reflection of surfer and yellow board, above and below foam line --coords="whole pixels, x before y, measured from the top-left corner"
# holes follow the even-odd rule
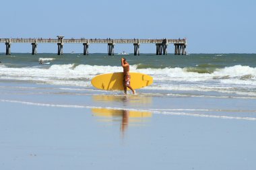
[[[152,98],[141,95],[94,95],[94,101],[97,103],[103,102],[113,104],[114,102],[122,103],[122,108],[133,108],[136,105],[151,105]],[[105,106],[107,107],[107,106]],[[125,134],[128,125],[141,126],[148,118],[152,117],[150,112],[139,112],[127,109],[107,109],[107,108],[94,108],[92,109],[94,116],[100,117],[100,121],[108,122],[121,122],[121,132]]]

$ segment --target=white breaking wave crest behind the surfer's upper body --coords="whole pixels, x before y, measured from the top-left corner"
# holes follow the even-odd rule
[[[3,65],[1,66],[2,71],[6,71],[7,73],[15,74],[15,72],[23,72],[28,73],[34,72],[32,74],[36,74],[39,72],[45,72],[49,75],[55,75],[58,77],[59,74],[63,75],[69,75],[69,73],[72,75],[72,73],[75,73],[75,75],[98,75],[102,73],[113,73],[113,72],[121,72],[123,69],[121,67],[111,67],[111,66],[92,66],[92,65],[78,65],[75,66],[74,64],[69,65],[52,65],[49,69],[32,69],[32,68],[3,68]],[[155,76],[154,79],[213,79],[216,77],[230,77],[230,78],[243,78],[245,79],[247,76],[247,79],[255,79],[256,77],[256,68],[251,68],[248,66],[241,66],[236,65],[234,67],[226,67],[224,69],[218,69],[214,71],[214,73],[195,73],[195,72],[187,72],[186,69],[182,68],[164,68],[164,69],[136,69],[136,67],[131,66],[132,72],[138,72],[138,73],[145,73],[148,75]],[[73,76],[73,75],[72,75]]]

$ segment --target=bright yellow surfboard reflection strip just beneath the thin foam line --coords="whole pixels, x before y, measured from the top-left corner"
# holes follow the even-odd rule
[[[95,116],[111,116],[118,117],[123,116],[123,114],[129,113],[130,118],[149,118],[152,116],[150,112],[139,112],[139,111],[127,111],[127,110],[112,110],[112,109],[104,109],[104,108],[93,108],[92,112]]]

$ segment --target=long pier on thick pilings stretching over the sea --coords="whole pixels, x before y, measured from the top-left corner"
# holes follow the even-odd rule
[[[139,46],[141,44],[156,44],[156,55],[166,55],[167,54],[167,46],[169,44],[174,44],[174,54],[175,55],[185,55],[186,47],[187,47],[187,40],[186,38],[183,39],[100,39],[100,38],[80,38],[74,39],[69,38],[65,39],[64,36],[57,36],[57,38],[0,38],[0,43],[5,43],[6,50],[5,54],[11,54],[11,44],[12,43],[29,43],[32,44],[32,54],[37,53],[37,46],[40,43],[52,43],[57,44],[58,47],[58,55],[63,54],[63,46],[64,44],[83,44],[84,46],[84,55],[88,55],[88,48],[90,44],[107,44],[108,45],[108,55],[114,55],[114,47],[116,44],[133,44],[134,48],[134,55],[139,55]]]

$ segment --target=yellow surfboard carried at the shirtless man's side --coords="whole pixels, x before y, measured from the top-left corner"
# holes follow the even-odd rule
[[[140,89],[153,83],[153,78],[150,75],[142,73],[130,73],[130,75],[131,87],[133,87],[133,89]],[[123,90],[123,73],[106,73],[97,75],[92,79],[91,83],[97,89]]]

